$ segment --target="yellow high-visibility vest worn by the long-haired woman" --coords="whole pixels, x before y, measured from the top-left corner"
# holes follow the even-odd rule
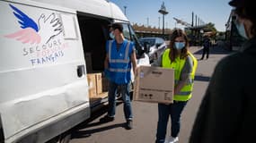
[[[166,49],[163,53],[162,57],[162,66],[163,68],[172,68],[174,69],[174,79],[175,85],[181,79],[181,71],[185,65],[186,59],[181,59],[180,57],[175,58],[175,61],[171,63],[171,59],[169,58],[170,48]],[[181,88],[181,91],[174,95],[173,100],[175,101],[188,101],[192,97],[192,89],[194,85],[195,73],[198,67],[198,61],[194,55],[189,52],[190,57],[193,60],[193,69],[190,74],[190,82],[187,82],[186,85]]]

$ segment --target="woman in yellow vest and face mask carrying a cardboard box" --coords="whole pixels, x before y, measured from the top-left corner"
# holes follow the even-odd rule
[[[192,96],[193,80],[197,68],[196,58],[190,54],[188,37],[182,29],[174,29],[170,47],[153,66],[174,69],[175,87],[173,104],[158,104],[156,143],[177,142],[181,128],[181,112]],[[171,136],[165,139],[169,115],[171,116]]]

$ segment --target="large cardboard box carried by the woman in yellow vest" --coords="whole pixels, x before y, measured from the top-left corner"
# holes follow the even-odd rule
[[[161,67],[138,67],[135,80],[135,100],[153,103],[173,103],[174,70]]]

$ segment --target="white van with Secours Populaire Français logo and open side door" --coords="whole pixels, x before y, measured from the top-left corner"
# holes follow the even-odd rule
[[[61,142],[90,118],[87,75],[103,71],[110,23],[123,24],[138,64],[149,63],[127,17],[107,0],[1,0],[0,18],[1,143]]]

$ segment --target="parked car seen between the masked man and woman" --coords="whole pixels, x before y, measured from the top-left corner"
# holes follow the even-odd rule
[[[163,38],[139,38],[142,46],[146,46],[146,54],[149,55],[150,63],[160,56],[167,47]]]

